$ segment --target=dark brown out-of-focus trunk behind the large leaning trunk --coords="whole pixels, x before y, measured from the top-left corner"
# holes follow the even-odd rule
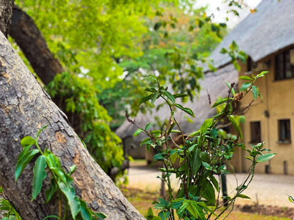
[[[13,6],[9,34],[15,39],[18,47],[23,51],[35,73],[45,85],[52,81],[57,73],[64,71],[61,63],[49,51],[47,43],[33,19],[17,6]]]

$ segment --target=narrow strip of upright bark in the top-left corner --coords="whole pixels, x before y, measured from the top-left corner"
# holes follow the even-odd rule
[[[14,0],[0,1],[0,31],[6,37],[10,30],[13,4]]]

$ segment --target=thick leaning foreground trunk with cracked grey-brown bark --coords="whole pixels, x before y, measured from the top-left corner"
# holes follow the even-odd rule
[[[57,213],[57,202],[45,204],[44,193],[30,202],[33,164],[14,183],[14,169],[22,149],[20,140],[25,135],[35,136],[45,124],[49,126],[39,138],[42,149],[52,150],[67,171],[76,164],[73,183],[90,207],[107,214],[107,219],[144,219],[90,157],[66,116],[0,33],[0,185],[24,220]],[[46,180],[45,188],[48,183]]]

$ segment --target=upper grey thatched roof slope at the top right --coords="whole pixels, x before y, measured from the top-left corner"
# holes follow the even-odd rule
[[[220,49],[228,48],[233,40],[253,61],[294,44],[294,1],[261,1],[257,12],[242,20],[213,51],[210,59],[216,68],[230,62]]]

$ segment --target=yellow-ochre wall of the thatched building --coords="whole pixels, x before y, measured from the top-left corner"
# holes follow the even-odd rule
[[[294,78],[286,80],[275,80],[275,54],[266,58],[267,66],[266,78],[261,78],[257,82],[257,86],[263,96],[263,99],[257,98],[252,104],[249,111],[245,114],[245,124],[242,126],[244,142],[250,147],[251,132],[250,122],[260,121],[261,125],[261,141],[266,142],[265,148],[271,149],[276,153],[276,157],[265,163],[258,164],[257,173],[288,173],[294,174]],[[261,61],[264,62],[264,61]],[[258,73],[247,73],[247,65],[241,64],[240,75],[252,75]],[[264,69],[266,71],[266,69]],[[239,82],[239,87],[242,85]],[[248,106],[253,99],[249,94],[240,103],[241,108]],[[278,120],[290,119],[290,138],[289,143],[278,142]],[[245,155],[244,155],[245,156]],[[288,166],[285,166],[285,163]],[[249,161],[242,158],[242,171],[249,169]]]

